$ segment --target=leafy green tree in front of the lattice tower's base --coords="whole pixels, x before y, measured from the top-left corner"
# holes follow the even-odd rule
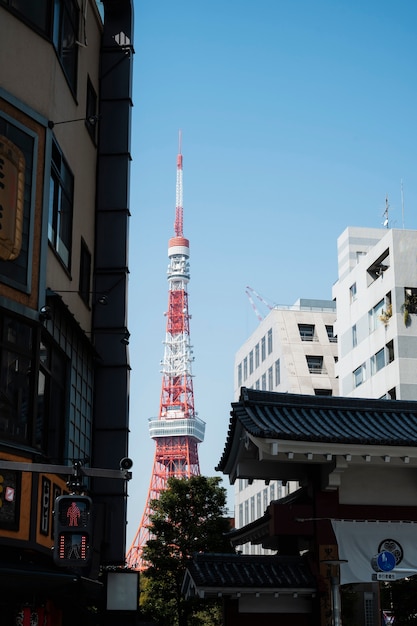
[[[181,586],[195,552],[233,552],[224,536],[230,522],[225,516],[226,490],[220,483],[218,477],[170,478],[167,489],[151,502],[152,538],[143,550],[149,567],[143,573],[141,607],[161,626],[209,623],[205,609],[214,619],[213,607],[186,601]]]

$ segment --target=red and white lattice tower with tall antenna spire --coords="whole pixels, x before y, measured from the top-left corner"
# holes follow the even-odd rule
[[[159,498],[171,476],[190,478],[200,474],[198,444],[203,441],[205,431],[205,423],[194,409],[191,374],[193,356],[187,292],[190,243],[183,235],[181,132],[174,231],[175,236],[168,243],[168,312],[159,416],[149,420],[149,433],[156,443],[154,464],[142,520],[126,556],[127,566],[137,570],[146,566],[142,550],[150,538],[151,501]]]

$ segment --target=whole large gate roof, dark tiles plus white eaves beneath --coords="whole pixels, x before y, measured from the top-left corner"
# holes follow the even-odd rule
[[[417,402],[369,400],[335,396],[272,393],[242,387],[232,403],[229,432],[216,468],[250,478],[285,478],[276,474],[291,459],[331,462],[336,457],[378,459],[395,457],[417,466]],[[253,461],[262,461],[255,467]],[[268,461],[274,461],[274,472]],[[252,465],[250,462],[252,461]],[[243,464],[247,470],[242,472]],[[249,467],[250,466],[250,467]],[[250,469],[250,471],[249,471]],[[285,473],[285,472],[284,472]]]

